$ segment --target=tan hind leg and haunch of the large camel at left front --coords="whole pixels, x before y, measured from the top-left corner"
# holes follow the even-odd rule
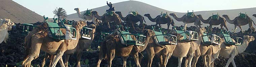
[[[22,67],[30,67],[31,61],[38,58],[42,41],[43,41],[42,38],[31,37],[31,46],[29,46],[30,47],[29,54],[25,58],[25,60],[22,62]]]

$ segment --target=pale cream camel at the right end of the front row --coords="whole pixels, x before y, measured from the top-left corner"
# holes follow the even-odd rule
[[[234,57],[238,54],[243,53],[248,47],[248,44],[252,41],[254,41],[253,36],[244,36],[242,46],[226,45],[222,43],[223,45],[221,45],[220,55],[223,56],[224,58],[229,58],[225,67],[228,67],[230,62],[232,62],[233,67],[236,67]],[[230,48],[226,48],[226,47],[230,47]]]

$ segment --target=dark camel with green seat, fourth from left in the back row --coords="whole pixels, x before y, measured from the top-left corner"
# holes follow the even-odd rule
[[[156,18],[152,18],[150,16],[150,14],[145,14],[144,16],[148,17],[150,21],[156,22],[155,25],[158,24],[159,27],[161,27],[161,24],[166,24],[166,23],[167,23],[167,29],[169,29],[170,25],[174,26],[174,22],[173,22],[173,20],[171,19],[170,16],[167,16],[167,18],[160,17],[160,15],[156,16]]]

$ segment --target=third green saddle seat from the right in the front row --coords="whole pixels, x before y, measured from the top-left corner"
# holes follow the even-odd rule
[[[182,27],[183,28],[183,27]],[[182,42],[192,42],[192,41],[198,41],[198,33],[195,31],[191,31],[192,34],[194,34],[193,39],[189,40],[190,34],[189,31],[183,31],[182,29],[176,29],[176,26],[173,26],[173,29],[178,33],[181,34],[184,38],[181,40]]]

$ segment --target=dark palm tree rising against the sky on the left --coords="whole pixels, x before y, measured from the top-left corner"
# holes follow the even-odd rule
[[[57,7],[56,7],[56,9],[53,11],[53,13],[55,14],[54,17],[58,17],[58,22],[60,21],[60,18],[64,19],[67,17],[67,12],[63,8],[57,9]]]

